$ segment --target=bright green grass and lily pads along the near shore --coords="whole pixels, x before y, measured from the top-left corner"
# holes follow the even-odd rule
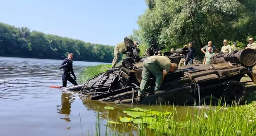
[[[169,115],[154,115],[155,122],[116,122],[120,124],[106,124],[103,128],[105,136],[255,136],[256,135],[256,102],[249,105],[201,106],[186,108],[183,115],[173,106],[167,110]],[[117,109],[118,110],[118,109]],[[143,111],[141,111],[143,112]],[[164,113],[164,112],[162,112]],[[108,116],[111,110],[108,110]],[[123,117],[131,117],[124,115]],[[131,117],[132,118],[132,117]],[[136,117],[133,117],[136,119]],[[140,119],[142,117],[137,117]],[[151,118],[151,117],[150,117]],[[99,116],[95,136],[99,136]],[[110,128],[110,129],[108,129]],[[136,134],[134,135],[134,131]]]

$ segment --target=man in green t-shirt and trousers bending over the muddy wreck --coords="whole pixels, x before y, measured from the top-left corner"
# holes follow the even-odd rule
[[[156,77],[156,86],[154,87],[154,94],[163,94],[165,91],[160,90],[160,86],[164,77],[169,73],[177,70],[177,64],[171,63],[171,60],[165,56],[151,56],[147,57],[143,62],[142,80],[140,82],[140,90],[138,96],[142,96],[145,92],[150,72]]]

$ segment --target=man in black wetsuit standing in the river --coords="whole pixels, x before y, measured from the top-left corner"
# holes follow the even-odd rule
[[[67,55],[67,58],[64,59],[64,61],[61,63],[61,65],[58,67],[58,69],[62,68],[62,87],[67,87],[67,81],[71,82],[73,85],[77,85],[76,83],[76,75],[73,71],[73,59],[74,54],[69,53]],[[70,74],[73,75],[74,79],[70,76]]]

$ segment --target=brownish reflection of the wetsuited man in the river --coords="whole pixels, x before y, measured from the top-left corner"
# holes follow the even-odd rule
[[[64,114],[64,119],[66,122],[70,122],[70,113],[71,113],[71,104],[74,102],[76,99],[76,96],[72,93],[69,92],[62,92],[61,94],[61,106],[57,105],[57,111],[60,114]],[[61,107],[61,108],[60,108]]]

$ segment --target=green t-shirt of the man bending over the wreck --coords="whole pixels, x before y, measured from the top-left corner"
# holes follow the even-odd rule
[[[161,71],[166,70],[169,72],[171,70],[171,60],[165,56],[150,56],[148,57],[155,61]]]

